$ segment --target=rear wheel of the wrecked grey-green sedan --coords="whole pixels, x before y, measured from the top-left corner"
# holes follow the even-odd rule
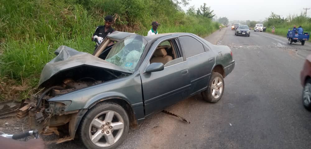
[[[207,84],[207,90],[201,93],[203,99],[207,102],[216,103],[224,94],[225,84],[222,75],[218,72],[212,72]]]

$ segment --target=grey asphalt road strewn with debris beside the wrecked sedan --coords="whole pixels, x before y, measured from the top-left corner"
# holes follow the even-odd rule
[[[215,36],[214,36],[215,35]],[[213,38],[211,38],[213,37]],[[206,39],[227,45],[236,61],[217,103],[193,96],[147,118],[119,147],[148,149],[310,148],[311,113],[301,102],[299,73],[311,43],[289,45],[284,37],[223,28]],[[78,140],[50,148],[83,148]]]

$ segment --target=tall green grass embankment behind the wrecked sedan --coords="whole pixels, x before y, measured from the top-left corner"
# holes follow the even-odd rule
[[[114,5],[108,9],[109,2]],[[202,37],[219,26],[202,16],[186,15],[170,0],[162,4],[152,0],[0,0],[0,7],[0,101],[21,100],[37,92],[41,70],[60,45],[92,53],[91,36],[108,14],[116,14],[116,30],[142,35],[154,20],[161,24],[159,33],[190,32]]]

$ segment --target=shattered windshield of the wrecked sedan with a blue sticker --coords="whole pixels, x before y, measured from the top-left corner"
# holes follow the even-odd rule
[[[121,68],[134,71],[147,43],[141,35],[128,36],[112,47],[105,60]]]

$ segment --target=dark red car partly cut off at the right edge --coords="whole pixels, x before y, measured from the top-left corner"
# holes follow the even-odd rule
[[[304,87],[302,92],[302,104],[311,111],[311,55],[307,56],[304,66],[300,72],[301,85]]]

